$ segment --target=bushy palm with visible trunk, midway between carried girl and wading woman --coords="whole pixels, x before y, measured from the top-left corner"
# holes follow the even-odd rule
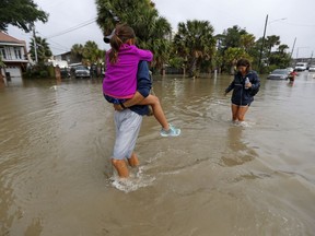
[[[178,24],[174,48],[177,55],[187,60],[190,76],[198,76],[202,60],[212,60],[215,51],[213,32],[214,28],[208,21],[194,20]]]

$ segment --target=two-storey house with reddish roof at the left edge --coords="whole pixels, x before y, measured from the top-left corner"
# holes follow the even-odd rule
[[[10,78],[22,78],[22,71],[26,70],[28,63],[26,44],[10,35],[0,32],[0,57],[5,64],[1,73]]]

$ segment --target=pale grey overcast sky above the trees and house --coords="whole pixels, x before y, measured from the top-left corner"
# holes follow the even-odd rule
[[[49,13],[46,24],[37,22],[37,35],[47,38],[54,55],[69,51],[74,44],[94,40],[101,49],[108,49],[103,43],[103,34],[95,23],[94,0],[34,0],[40,9]],[[215,34],[238,25],[256,38],[262,37],[268,14],[267,33],[278,35],[293,57],[315,57],[315,1],[314,0],[153,0],[160,15],[166,17],[176,32],[179,22],[207,20]],[[85,26],[84,26],[85,25]],[[74,30],[71,31],[70,30]],[[66,33],[69,32],[69,33]],[[16,27],[8,33],[28,42],[31,34]],[[66,33],[66,34],[65,34]]]

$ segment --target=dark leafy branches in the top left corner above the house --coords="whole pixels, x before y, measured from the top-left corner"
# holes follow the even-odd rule
[[[0,31],[7,32],[9,25],[30,32],[30,24],[36,21],[46,23],[48,13],[38,10],[33,0],[1,0],[0,1]]]

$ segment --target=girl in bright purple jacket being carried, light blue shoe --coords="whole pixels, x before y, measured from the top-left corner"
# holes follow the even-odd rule
[[[103,81],[103,93],[107,102],[128,108],[128,99],[137,91],[137,70],[141,60],[152,61],[149,50],[136,47],[136,35],[126,24],[118,25],[110,37],[112,49],[106,52],[106,72]],[[151,105],[155,119],[161,123],[162,137],[177,137],[180,129],[170,125],[165,118],[160,101],[149,95],[137,105]]]

